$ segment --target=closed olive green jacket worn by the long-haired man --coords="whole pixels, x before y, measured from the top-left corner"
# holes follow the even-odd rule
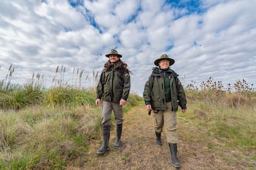
[[[97,98],[104,101],[119,102],[127,100],[130,92],[130,75],[123,67],[115,68],[113,64],[106,72],[101,73],[97,86]]]

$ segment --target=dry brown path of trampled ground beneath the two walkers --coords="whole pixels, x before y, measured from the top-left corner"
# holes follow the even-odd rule
[[[179,132],[195,133],[193,127],[178,122]],[[112,126],[110,150],[104,155],[97,155],[99,140],[91,142],[90,150],[84,160],[83,169],[176,169],[171,166],[168,143],[162,135],[163,146],[155,144],[153,117],[146,112],[144,105],[135,106],[124,115],[122,146],[113,148],[115,127]],[[186,140],[179,133],[178,157],[180,169],[244,169],[243,166],[226,163],[219,155],[208,151],[205,143]],[[192,135],[193,136],[193,135]]]

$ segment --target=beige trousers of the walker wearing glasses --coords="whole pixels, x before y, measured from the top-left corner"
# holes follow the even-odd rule
[[[178,135],[176,128],[176,115],[177,112],[171,110],[171,102],[166,103],[166,110],[158,110],[157,114],[154,114],[155,132],[162,132],[165,127],[166,140],[168,143],[177,143]],[[165,125],[165,126],[164,126]]]

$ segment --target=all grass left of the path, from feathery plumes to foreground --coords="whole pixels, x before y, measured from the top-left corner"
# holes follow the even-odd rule
[[[57,66],[46,89],[40,74],[24,86],[13,84],[10,67],[0,85],[0,169],[65,169],[88,151],[101,126],[100,107],[93,107],[96,91],[81,87],[81,69],[71,85],[65,83],[65,70]],[[98,72],[93,77],[96,82]],[[138,100],[131,94],[125,112]]]

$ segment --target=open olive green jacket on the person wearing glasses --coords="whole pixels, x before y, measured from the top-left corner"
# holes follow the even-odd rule
[[[187,109],[187,100],[182,84],[176,72],[169,69],[169,80],[171,86],[172,111],[177,111],[178,106]],[[158,67],[152,69],[152,74],[144,86],[143,98],[145,104],[151,104],[153,110],[166,110],[165,102],[165,83]]]

